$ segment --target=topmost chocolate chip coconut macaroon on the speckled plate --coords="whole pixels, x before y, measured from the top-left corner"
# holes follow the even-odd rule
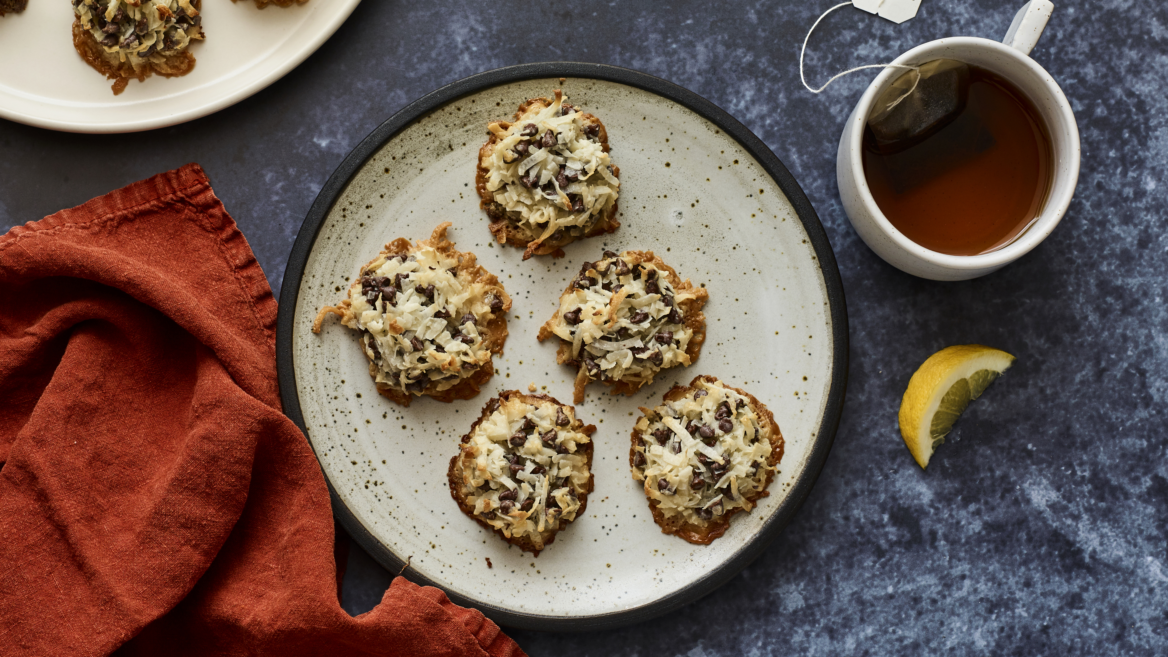
[[[487,125],[474,187],[500,244],[533,255],[563,256],[561,247],[612,233],[620,168],[609,158],[609,133],[595,116],[555,98],[531,98],[513,122]]]

